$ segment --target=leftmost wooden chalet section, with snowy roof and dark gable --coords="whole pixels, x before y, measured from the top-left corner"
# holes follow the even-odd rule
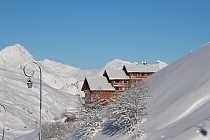
[[[85,103],[92,103],[98,98],[109,100],[110,96],[115,92],[115,88],[103,76],[96,78],[85,77],[82,91],[85,92]]]

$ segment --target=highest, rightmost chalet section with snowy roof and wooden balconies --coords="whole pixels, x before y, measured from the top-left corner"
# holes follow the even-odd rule
[[[129,76],[131,85],[141,82],[158,70],[160,70],[158,65],[148,65],[145,62],[143,64],[127,64],[123,66],[123,71]]]

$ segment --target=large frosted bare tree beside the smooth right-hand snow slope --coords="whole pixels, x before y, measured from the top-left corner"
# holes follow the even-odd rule
[[[148,90],[147,84],[141,82],[122,94],[116,94],[108,107],[107,127],[115,127],[125,134],[136,131],[136,136],[141,137],[146,131],[143,122],[149,110]]]

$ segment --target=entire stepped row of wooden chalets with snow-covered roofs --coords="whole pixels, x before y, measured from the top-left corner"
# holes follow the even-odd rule
[[[85,78],[82,86],[85,102],[91,103],[97,98],[109,100],[115,92],[124,92],[165,66],[167,64],[161,61],[154,65],[126,64],[122,70],[105,70],[101,77]]]

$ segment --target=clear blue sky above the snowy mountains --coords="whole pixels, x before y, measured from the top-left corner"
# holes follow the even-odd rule
[[[210,42],[209,0],[0,0],[0,49],[82,69],[172,63]]]

